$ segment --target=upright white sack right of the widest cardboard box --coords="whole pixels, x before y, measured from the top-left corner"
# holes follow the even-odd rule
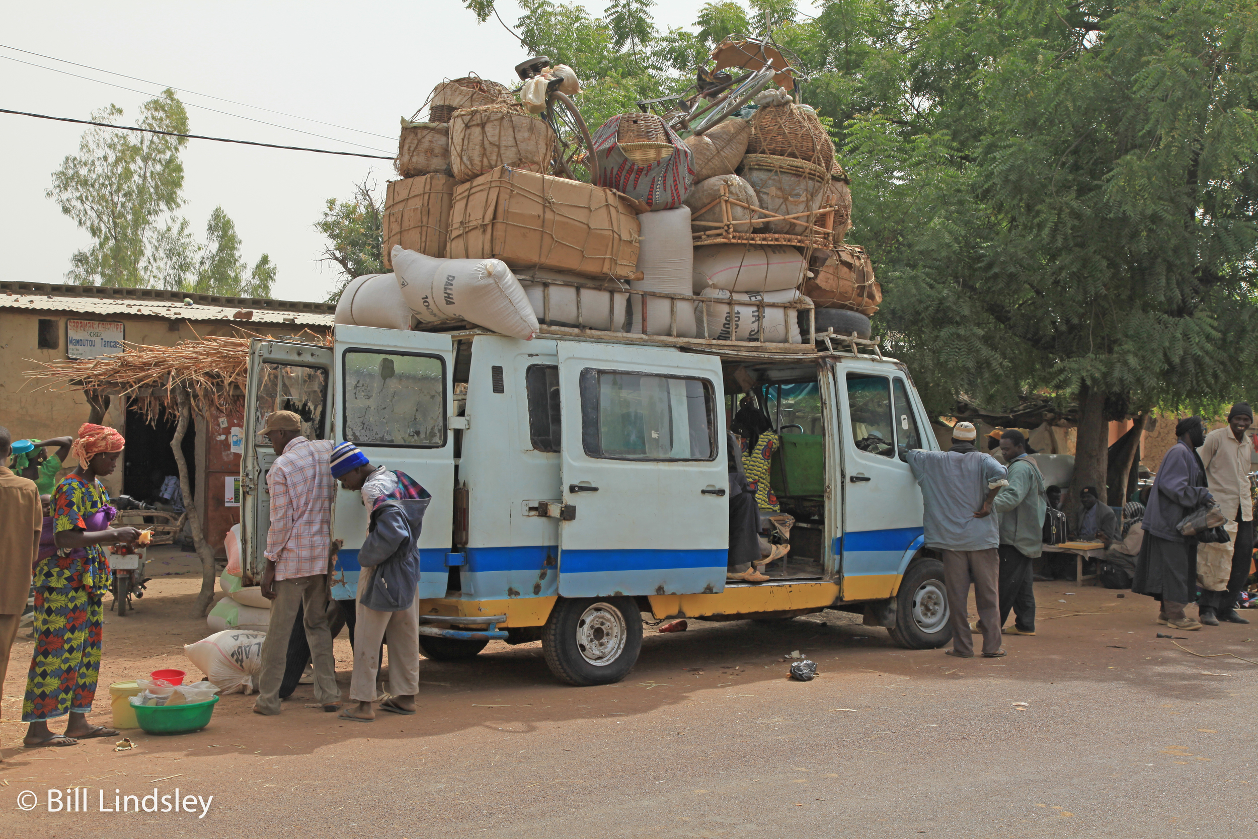
[[[634,291],[667,292],[669,294],[689,294],[692,274],[694,273],[694,245],[691,242],[691,208],[679,206],[674,210],[655,210],[638,216],[642,223],[642,250],[638,254],[640,281],[633,281]],[[645,303],[645,306],[643,306]],[[668,298],[634,297],[630,303],[633,331],[645,335],[672,335],[671,307],[674,301]],[[687,301],[676,301],[677,337],[693,338],[694,307]],[[645,308],[647,328],[643,330],[643,308]]]

